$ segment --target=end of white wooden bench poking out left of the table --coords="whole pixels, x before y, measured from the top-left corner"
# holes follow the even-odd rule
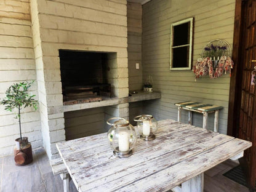
[[[54,175],[60,175],[63,180],[64,192],[70,191],[70,175],[68,174],[68,170],[62,158],[52,159],[50,161],[50,166],[52,167],[52,172]]]

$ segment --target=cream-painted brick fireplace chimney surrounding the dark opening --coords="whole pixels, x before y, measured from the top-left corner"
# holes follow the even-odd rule
[[[102,127],[111,116],[129,117],[129,104],[96,108],[86,103],[63,106],[60,50],[111,53],[108,65],[108,81],[113,98],[128,96],[127,64],[127,2],[118,1],[46,1],[31,0],[36,74],[39,90],[41,132],[44,148],[49,158],[57,156],[56,142],[66,140],[65,126],[80,122],[82,127]],[[75,84],[73,84],[75,85]],[[95,114],[100,122],[89,119]],[[95,124],[95,126],[92,126]],[[74,125],[78,129],[80,125]],[[97,133],[100,130],[97,130]],[[93,130],[90,130],[93,134]],[[76,136],[74,136],[76,135]],[[81,132],[73,137],[82,137]]]

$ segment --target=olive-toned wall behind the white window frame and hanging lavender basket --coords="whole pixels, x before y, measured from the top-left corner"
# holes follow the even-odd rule
[[[194,81],[193,71],[170,71],[170,25],[194,17],[193,64],[200,57],[202,48],[212,39],[225,39],[233,46],[235,1],[185,1],[152,0],[143,5],[142,62],[143,79],[153,77],[153,89],[161,92],[158,101],[143,103],[143,113],[156,119],[177,119],[174,103],[193,100],[223,106],[219,116],[219,132],[226,134],[230,74],[218,79],[203,77]],[[236,65],[236,63],[235,63]],[[182,122],[187,121],[187,113]],[[209,116],[208,126],[213,126],[214,116]],[[194,114],[196,126],[202,124],[200,114]]]

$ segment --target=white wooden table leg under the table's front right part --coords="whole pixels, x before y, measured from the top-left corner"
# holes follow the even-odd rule
[[[191,178],[182,183],[182,192],[203,192],[204,191],[204,173]]]

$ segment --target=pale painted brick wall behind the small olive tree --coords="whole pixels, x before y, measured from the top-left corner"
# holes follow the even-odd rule
[[[0,95],[15,82],[36,79],[29,1],[0,1]],[[38,98],[37,84],[31,94]],[[13,154],[15,138],[20,137],[15,114],[0,106],[0,157]],[[42,146],[39,111],[22,110],[22,133],[33,148]]]

